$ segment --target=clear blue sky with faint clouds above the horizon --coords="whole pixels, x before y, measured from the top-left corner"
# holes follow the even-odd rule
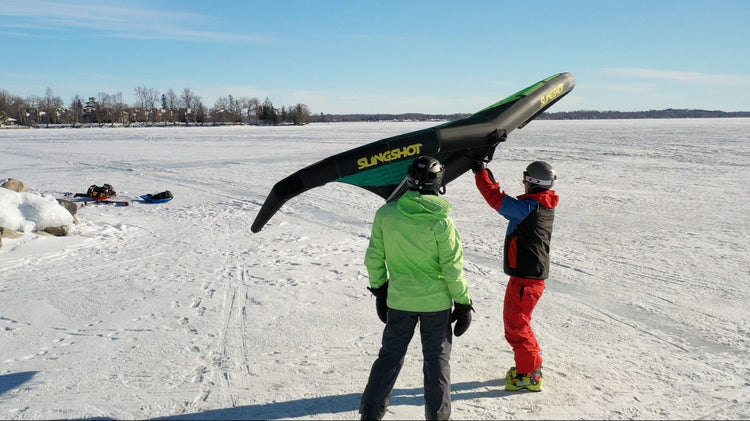
[[[551,111],[748,111],[749,28],[748,0],[4,0],[0,89],[469,113],[571,72]]]

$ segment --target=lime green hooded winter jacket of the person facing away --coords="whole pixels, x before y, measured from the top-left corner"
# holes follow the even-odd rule
[[[471,303],[451,207],[442,197],[407,191],[378,209],[365,266],[372,288],[390,281],[389,308],[430,312]]]

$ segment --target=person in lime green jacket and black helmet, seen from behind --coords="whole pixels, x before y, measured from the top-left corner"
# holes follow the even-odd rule
[[[455,335],[461,336],[471,324],[473,308],[451,204],[438,196],[444,173],[438,160],[417,158],[409,167],[408,190],[375,214],[365,266],[368,289],[386,325],[362,395],[363,420],[385,415],[417,322],[424,357],[425,418],[448,419],[451,414],[451,323],[456,322]]]

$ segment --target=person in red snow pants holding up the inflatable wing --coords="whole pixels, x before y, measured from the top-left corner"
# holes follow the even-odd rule
[[[484,199],[508,219],[503,269],[510,280],[505,291],[503,321],[505,338],[513,348],[516,362],[515,368],[508,371],[508,379],[510,381],[513,370],[513,376],[535,373],[541,378],[541,348],[531,329],[531,315],[544,292],[544,280],[549,276],[549,245],[554,212],[560,201],[551,187],[557,176],[549,164],[535,161],[523,174],[525,193],[511,197],[500,190],[500,183],[495,181],[484,161],[476,162],[472,170]]]

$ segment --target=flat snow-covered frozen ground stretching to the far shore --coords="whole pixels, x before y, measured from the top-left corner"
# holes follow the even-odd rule
[[[0,130],[0,179],[33,193],[175,197],[3,239],[0,418],[358,418],[381,199],[331,183],[250,225],[293,171],[433,124]],[[545,389],[503,390],[506,223],[464,175],[446,198],[476,313],[454,341],[453,418],[750,418],[750,120],[535,121],[490,168],[520,194],[537,159],[562,198],[533,321]],[[415,337],[386,419],[423,414]]]

